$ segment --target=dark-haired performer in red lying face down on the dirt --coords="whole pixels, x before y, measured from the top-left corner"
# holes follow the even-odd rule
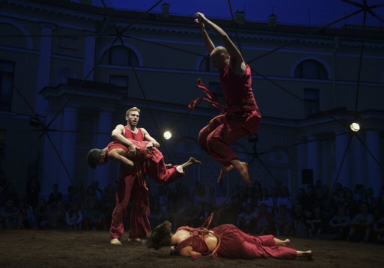
[[[152,230],[146,243],[149,248],[155,249],[172,246],[171,254],[193,258],[213,256],[245,259],[261,257],[311,259],[313,256],[312,250],[299,251],[287,247],[289,239],[280,240],[273,235],[251,236],[232,224],[220,225],[212,230],[182,226],[172,234],[171,223],[165,221]]]

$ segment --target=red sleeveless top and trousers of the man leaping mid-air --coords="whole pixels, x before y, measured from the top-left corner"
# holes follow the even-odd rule
[[[199,133],[201,148],[224,166],[238,159],[229,145],[253,135],[260,124],[261,115],[251,88],[251,70],[246,63],[245,67],[241,76],[235,74],[229,64],[221,71],[220,83],[226,104],[224,113],[212,119]]]

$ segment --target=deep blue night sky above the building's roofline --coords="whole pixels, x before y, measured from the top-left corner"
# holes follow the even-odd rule
[[[354,0],[362,3],[362,0]],[[130,10],[147,10],[154,5],[157,0],[110,0],[114,8]],[[229,6],[227,0],[165,0],[162,3],[170,5],[170,13],[194,15],[196,12],[202,12],[206,17],[230,18]],[[161,4],[154,11],[161,12]],[[384,4],[384,0],[367,0],[367,4]],[[300,24],[312,26],[324,25],[339,18],[344,17],[356,10],[350,4],[341,0],[232,0],[233,12],[239,10],[246,13],[246,20],[266,22],[268,16],[273,12],[277,15],[277,20],[284,24]],[[309,9],[309,10],[308,10]],[[376,8],[374,13],[384,20],[384,7]],[[363,15],[358,14],[346,20],[347,24],[362,24]],[[336,25],[342,27],[345,21]],[[367,25],[384,27],[377,19],[367,15]]]

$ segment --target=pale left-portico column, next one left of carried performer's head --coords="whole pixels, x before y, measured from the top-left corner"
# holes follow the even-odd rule
[[[77,130],[77,109],[74,107],[64,108],[64,120],[63,130]],[[58,148],[60,146],[56,144]],[[76,163],[76,133],[74,132],[63,132],[62,133],[62,144],[61,144],[61,156],[63,162],[68,169],[69,174],[73,181],[75,181],[75,163]],[[68,186],[72,185],[67,172],[65,171],[63,164],[60,163],[60,184],[59,187],[67,193]]]

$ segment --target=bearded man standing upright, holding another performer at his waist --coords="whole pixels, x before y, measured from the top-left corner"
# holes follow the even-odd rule
[[[137,107],[129,109],[125,119],[127,125],[117,125],[112,131],[112,138],[115,141],[121,142],[127,146],[128,156],[134,156],[135,150],[139,149],[132,144],[128,139],[137,141],[149,141],[145,146],[145,150],[149,153],[153,147],[159,148],[160,144],[152,138],[144,128],[138,128],[137,123],[140,118],[140,110]],[[116,193],[116,207],[112,214],[112,223],[110,228],[111,244],[121,244],[119,238],[124,232],[124,218],[127,211],[130,194],[132,193],[133,207],[130,219],[129,237],[140,239],[145,237],[151,231],[149,223],[149,196],[148,188],[140,181],[138,174],[141,170],[142,163],[134,163],[134,167],[127,171],[124,168],[120,169],[119,186]],[[145,179],[145,174],[142,174]]]

